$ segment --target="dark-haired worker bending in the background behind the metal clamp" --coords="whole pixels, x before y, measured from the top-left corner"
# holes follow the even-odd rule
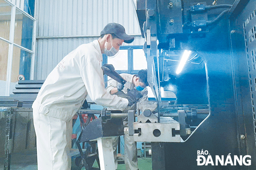
[[[143,94],[143,97],[140,98],[138,102],[147,101],[147,86],[149,85],[147,82],[147,70],[143,69],[138,72],[138,74],[131,75],[131,74],[120,74],[127,82],[122,85],[121,83],[115,81],[114,79],[109,79],[107,81],[107,92],[110,94],[116,94],[119,97],[124,97],[127,92],[133,88],[136,88]],[[108,108],[112,110],[112,108]],[[127,113],[128,110],[136,110],[136,104],[132,106],[126,107],[123,111]],[[138,170],[138,158],[137,158],[137,142],[133,140],[133,136],[129,136],[128,134],[128,118],[126,117],[123,120],[123,124],[125,127],[125,167],[126,170]],[[118,161],[117,161],[117,145],[118,145],[118,137],[113,138],[113,151],[114,151],[114,159],[115,159],[115,166],[117,169]]]

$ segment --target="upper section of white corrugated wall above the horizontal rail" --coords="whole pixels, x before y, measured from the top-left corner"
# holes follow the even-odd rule
[[[37,36],[99,35],[109,22],[140,34],[131,0],[38,0]]]

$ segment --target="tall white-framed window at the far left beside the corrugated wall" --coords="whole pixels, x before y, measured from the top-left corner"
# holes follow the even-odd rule
[[[24,10],[16,7],[12,2],[0,0],[0,96],[8,96],[12,87],[18,81],[19,74],[30,80],[32,58],[35,55],[33,9],[35,0],[26,0]],[[32,6],[31,6],[32,5]],[[26,13],[28,8],[30,12]],[[26,11],[26,12],[25,12]],[[10,22],[11,18],[14,19]],[[9,61],[9,62],[8,62]],[[7,74],[9,73],[9,74]],[[11,88],[11,89],[9,89]]]

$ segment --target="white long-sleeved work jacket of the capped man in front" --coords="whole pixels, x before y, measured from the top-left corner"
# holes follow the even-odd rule
[[[48,75],[32,105],[33,110],[67,121],[81,108],[87,94],[99,105],[125,108],[127,99],[107,93],[101,61],[98,40],[78,46]]]

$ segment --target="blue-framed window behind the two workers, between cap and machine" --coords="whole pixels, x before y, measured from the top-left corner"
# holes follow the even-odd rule
[[[114,58],[107,58],[107,63],[112,64],[120,73],[137,74],[138,70],[147,69],[147,61],[143,46],[120,46],[119,53]]]

